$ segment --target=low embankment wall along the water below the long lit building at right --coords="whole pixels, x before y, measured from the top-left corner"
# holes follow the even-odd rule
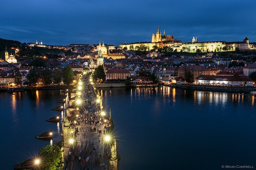
[[[194,90],[212,90],[222,92],[251,92],[256,91],[256,87],[250,86],[205,86],[196,84],[176,84],[179,88],[188,88]]]

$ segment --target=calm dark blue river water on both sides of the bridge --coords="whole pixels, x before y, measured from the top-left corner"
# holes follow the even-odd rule
[[[256,168],[254,96],[165,86],[99,92],[115,121],[120,170]],[[50,110],[60,106],[58,95],[59,90],[0,93],[0,163],[5,169],[49,144],[36,135],[53,129],[53,143],[61,139],[57,123],[45,121],[59,113]]]

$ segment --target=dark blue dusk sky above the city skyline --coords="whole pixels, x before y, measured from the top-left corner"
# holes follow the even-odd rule
[[[0,38],[49,45],[151,41],[256,42],[256,0],[2,0]]]

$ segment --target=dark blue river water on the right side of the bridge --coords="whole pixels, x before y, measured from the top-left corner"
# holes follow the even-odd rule
[[[129,148],[120,147],[120,169],[208,169],[208,164],[219,169],[223,160],[256,158],[249,151],[256,150],[255,96],[248,93],[166,86],[103,93],[116,125],[124,129],[122,134],[129,133],[119,140]],[[242,160],[240,153],[246,158]],[[152,160],[161,163],[154,165]]]

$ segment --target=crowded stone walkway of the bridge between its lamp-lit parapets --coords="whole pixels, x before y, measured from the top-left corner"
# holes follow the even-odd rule
[[[84,84],[89,82],[89,76],[82,81]],[[76,125],[71,126],[74,128],[74,145],[71,147],[71,153],[64,168],[65,170],[108,170],[110,169],[110,154],[108,154],[110,148],[104,141],[104,133],[106,133],[104,127],[110,126],[110,118],[100,114],[101,101],[95,102],[97,96],[91,84],[84,85],[81,98],[84,99],[85,104],[79,108]]]

